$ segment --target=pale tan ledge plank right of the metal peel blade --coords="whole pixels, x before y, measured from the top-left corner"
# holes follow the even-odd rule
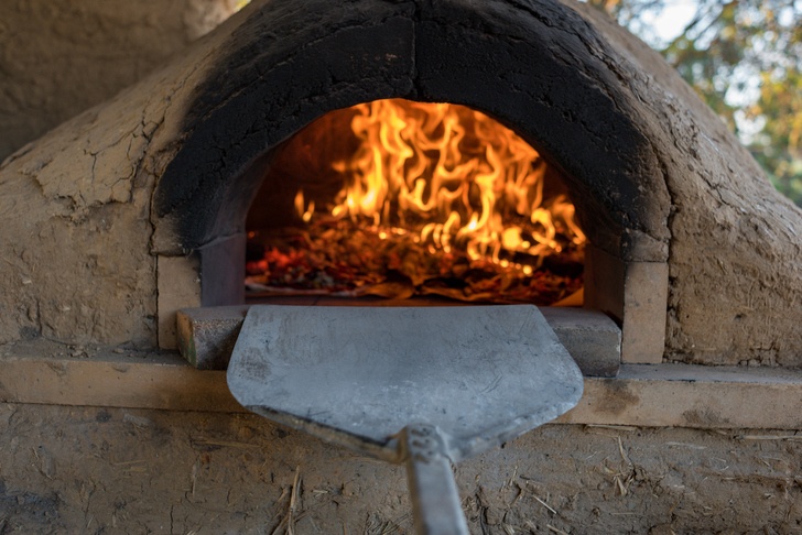
[[[802,372],[776,368],[624,364],[586,379],[563,423],[802,429]]]

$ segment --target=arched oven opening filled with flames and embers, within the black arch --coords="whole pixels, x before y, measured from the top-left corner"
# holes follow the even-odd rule
[[[248,303],[583,305],[586,238],[560,172],[485,113],[404,99],[335,110],[264,173]]]

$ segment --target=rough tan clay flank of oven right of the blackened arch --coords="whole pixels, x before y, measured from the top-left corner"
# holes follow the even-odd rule
[[[802,365],[802,210],[657,53],[581,9],[643,102],[671,193],[666,357]]]

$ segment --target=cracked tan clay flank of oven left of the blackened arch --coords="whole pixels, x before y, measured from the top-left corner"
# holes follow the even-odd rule
[[[0,163],[0,339],[155,345],[152,145],[176,135],[199,63],[182,58],[177,81],[151,74]]]

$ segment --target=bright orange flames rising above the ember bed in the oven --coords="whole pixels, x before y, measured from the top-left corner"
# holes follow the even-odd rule
[[[543,205],[545,166],[538,152],[488,116],[401,99],[353,110],[359,148],[333,165],[345,187],[332,216],[364,218],[384,237],[413,231],[430,251],[458,248],[472,260],[502,265],[585,242],[565,196]],[[315,211],[302,192],[295,208],[306,222]]]

